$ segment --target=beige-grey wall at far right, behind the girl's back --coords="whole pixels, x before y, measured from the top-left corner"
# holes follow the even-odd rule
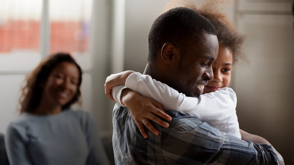
[[[240,128],[267,139],[294,164],[294,27],[291,2],[239,1],[236,24],[250,63],[232,76]]]

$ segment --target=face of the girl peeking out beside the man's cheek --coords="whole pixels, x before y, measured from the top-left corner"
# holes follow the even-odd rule
[[[223,45],[219,45],[218,57],[212,64],[213,80],[208,81],[203,93],[214,92],[220,88],[228,87],[231,80],[232,63],[233,54],[231,51]]]

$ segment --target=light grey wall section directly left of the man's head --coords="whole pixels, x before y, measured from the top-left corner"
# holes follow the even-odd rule
[[[148,34],[169,0],[126,0],[124,70],[143,73],[148,58]]]

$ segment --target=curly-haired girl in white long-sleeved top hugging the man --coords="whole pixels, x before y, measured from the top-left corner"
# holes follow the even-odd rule
[[[175,3],[179,3],[179,1]],[[212,127],[219,129],[224,134],[230,134],[242,138],[245,141],[270,145],[264,138],[239,129],[235,111],[236,95],[231,88],[228,88],[232,65],[238,59],[242,58],[243,55],[240,51],[243,36],[238,34],[233,26],[228,23],[225,15],[216,11],[216,7],[212,1],[208,1],[201,9],[197,9],[193,3],[185,2],[184,5],[175,3],[170,2],[167,6],[183,6],[197,11],[199,14],[208,18],[218,32],[218,57],[212,65],[214,78],[205,87],[200,86],[205,94],[200,95],[198,98],[186,97],[166,84],[153,80],[148,75],[126,71],[111,75],[106,79],[106,84],[104,85],[106,95],[111,100],[115,100],[119,105],[126,105],[128,107],[145,138],[147,138],[147,134],[143,129],[143,124],[154,134],[159,134],[149,120],[163,127],[168,127],[168,123],[159,118],[162,117],[167,121],[171,120],[164,113],[164,108],[165,110],[181,110],[187,112],[203,122],[208,122]],[[114,87],[116,85],[125,86]],[[155,100],[148,100],[148,98],[142,97],[132,90],[143,96],[155,99],[163,105],[163,108]],[[279,156],[280,161],[283,162],[282,156],[275,149],[274,151]]]

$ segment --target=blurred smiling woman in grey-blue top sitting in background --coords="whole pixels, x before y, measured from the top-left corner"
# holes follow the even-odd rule
[[[10,164],[109,164],[93,118],[70,110],[81,82],[81,68],[68,53],[51,55],[27,75],[21,115],[6,132]]]

